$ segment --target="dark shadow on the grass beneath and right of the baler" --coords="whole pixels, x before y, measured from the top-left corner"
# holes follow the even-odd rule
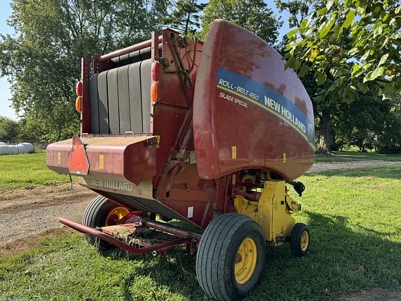
[[[306,214],[312,233],[310,254],[295,258],[288,245],[269,248],[260,285],[246,300],[335,300],[340,293],[372,286],[400,288],[401,244],[391,241],[399,238],[400,229],[381,233],[350,226],[347,217]],[[143,264],[123,284],[126,300],[141,300],[141,277],[188,300],[209,300],[196,280],[195,257],[183,249],[175,248],[164,258],[130,259]]]

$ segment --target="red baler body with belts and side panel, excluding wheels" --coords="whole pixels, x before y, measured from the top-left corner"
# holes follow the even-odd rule
[[[150,68],[159,64],[157,100]],[[238,173],[294,180],[313,164],[313,107],[272,47],[229,22],[205,43],[162,36],[82,60],[81,137],[47,148],[47,166],[129,210],[201,228],[232,212]]]

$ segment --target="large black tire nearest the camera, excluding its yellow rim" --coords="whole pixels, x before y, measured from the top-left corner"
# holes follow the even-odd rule
[[[247,238],[255,242],[257,256],[251,277],[239,284],[235,261],[239,247]],[[216,217],[203,233],[196,254],[196,277],[203,291],[215,300],[242,299],[258,284],[265,258],[265,238],[259,224],[245,215],[223,214]]]

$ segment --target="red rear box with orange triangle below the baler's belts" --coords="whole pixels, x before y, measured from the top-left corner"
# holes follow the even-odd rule
[[[73,137],[47,147],[47,166],[58,173],[138,185],[156,173],[156,148],[157,137],[148,134]]]

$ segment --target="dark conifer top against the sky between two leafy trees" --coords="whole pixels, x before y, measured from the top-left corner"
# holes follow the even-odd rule
[[[184,34],[194,34],[199,27],[199,13],[205,8],[206,4],[198,4],[196,0],[178,0],[175,9],[165,22]]]

